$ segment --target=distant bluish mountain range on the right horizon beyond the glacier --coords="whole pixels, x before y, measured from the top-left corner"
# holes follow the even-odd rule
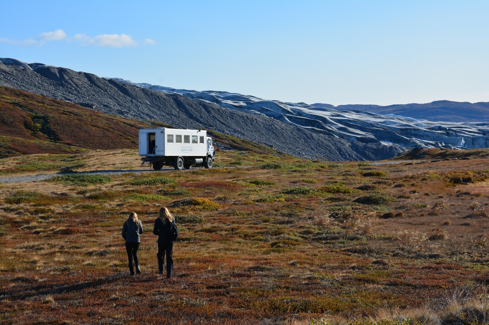
[[[400,105],[339,105],[315,103],[313,107],[357,110],[382,115],[397,115],[418,120],[445,122],[489,122],[489,102],[436,101],[425,104]]]

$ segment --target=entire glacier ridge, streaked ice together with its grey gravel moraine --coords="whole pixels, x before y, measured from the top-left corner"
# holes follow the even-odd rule
[[[408,147],[489,147],[489,123],[386,116],[351,107],[175,89],[103,79],[41,63],[0,61],[4,63],[0,64],[0,84],[6,86],[85,103],[86,107],[124,117],[214,129],[299,157],[379,160]],[[376,107],[368,105],[362,109]]]

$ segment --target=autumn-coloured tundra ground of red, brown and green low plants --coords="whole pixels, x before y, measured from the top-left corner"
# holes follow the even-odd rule
[[[220,150],[219,168],[109,176],[80,172],[135,169],[137,152],[2,159],[8,176],[79,167],[0,185],[1,323],[487,324],[489,151],[375,165],[245,148]],[[161,206],[180,230],[170,280],[151,233]]]

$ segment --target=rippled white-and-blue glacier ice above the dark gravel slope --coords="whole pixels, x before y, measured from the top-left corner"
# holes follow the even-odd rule
[[[166,94],[181,94],[201,102],[216,103],[241,112],[271,117],[348,141],[398,144],[404,147],[452,149],[489,147],[489,123],[417,120],[402,116],[379,115],[365,110],[377,107],[375,105],[362,105],[363,110],[353,109],[356,105],[334,107],[329,104],[315,104],[312,106],[303,102],[267,101],[254,96],[224,91],[174,89],[122,79],[115,80]]]

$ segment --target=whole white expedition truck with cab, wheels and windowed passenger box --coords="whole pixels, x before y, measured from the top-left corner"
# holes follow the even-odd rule
[[[141,166],[160,170],[163,165],[177,170],[192,165],[212,168],[214,142],[205,130],[182,130],[160,127],[139,130],[139,156]]]

